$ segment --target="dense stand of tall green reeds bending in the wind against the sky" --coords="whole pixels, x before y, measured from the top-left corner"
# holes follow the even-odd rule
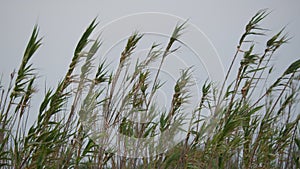
[[[183,106],[189,104],[192,92],[191,69],[183,70],[172,86],[174,94],[167,111],[160,112],[154,96],[164,85],[159,74],[165,58],[177,51],[173,46],[185,23],[175,27],[166,47],[154,43],[130,73],[130,57],[143,35],[135,32],[128,38],[116,70],[110,72],[105,61],[94,65],[101,41],[91,39],[97,27],[93,20],[80,38],[64,78],[57,87],[47,89],[38,110],[30,109],[38,76],[30,59],[42,42],[35,26],[18,71],[10,75],[7,87],[0,85],[0,167],[300,168],[300,60],[268,85],[272,57],[290,39],[284,29],[269,38],[265,35],[268,31],[261,22],[268,14],[259,11],[247,23],[222,85],[203,84],[183,141],[163,153],[147,149],[140,158],[132,158],[138,153],[132,154],[130,148],[151,143],[118,138],[119,143],[131,144],[118,156],[118,147],[109,146],[109,139],[115,137],[110,128],[117,125],[119,133],[133,138],[177,132],[172,126],[179,128],[183,123]],[[262,51],[257,50],[257,36],[267,38]],[[148,66],[154,62],[159,66],[151,76]],[[229,75],[235,78],[229,79]],[[137,111],[142,115],[134,116]],[[211,113],[209,120],[203,118],[205,111]],[[38,114],[34,124],[28,122],[30,113]],[[146,117],[147,123],[128,120]]]

